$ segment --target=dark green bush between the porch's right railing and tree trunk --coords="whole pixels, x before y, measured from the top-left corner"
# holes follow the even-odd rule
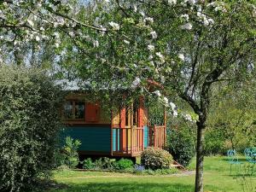
[[[179,127],[168,131],[168,151],[174,160],[183,166],[188,166],[195,155],[194,138],[188,129]]]

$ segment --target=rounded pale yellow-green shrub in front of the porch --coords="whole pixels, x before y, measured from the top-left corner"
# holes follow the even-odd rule
[[[146,169],[167,169],[172,163],[172,155],[161,148],[147,148],[142,153],[141,161]]]

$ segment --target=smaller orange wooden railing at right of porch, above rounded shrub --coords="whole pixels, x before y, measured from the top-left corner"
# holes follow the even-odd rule
[[[166,125],[149,126],[149,145],[156,148],[166,146]]]

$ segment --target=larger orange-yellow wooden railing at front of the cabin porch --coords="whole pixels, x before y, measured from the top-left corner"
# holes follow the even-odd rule
[[[115,154],[136,154],[144,148],[143,127],[112,128],[112,151]]]

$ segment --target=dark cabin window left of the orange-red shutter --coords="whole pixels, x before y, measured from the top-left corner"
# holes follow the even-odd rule
[[[84,102],[65,102],[64,117],[65,119],[84,119]]]

